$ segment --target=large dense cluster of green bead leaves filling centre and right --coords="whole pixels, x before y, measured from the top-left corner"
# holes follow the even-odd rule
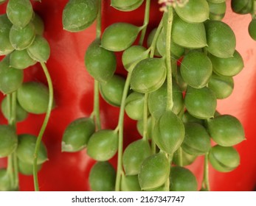
[[[112,0],[111,7],[129,12],[143,2]],[[150,4],[145,1],[146,13]],[[90,26],[99,15],[98,7],[97,1],[70,0],[63,10],[64,29],[77,32]],[[77,10],[83,13],[73,15]],[[184,167],[196,157],[204,155],[205,168],[210,160],[221,172],[232,171],[240,163],[234,146],[245,139],[241,122],[216,111],[217,99],[232,94],[233,77],[243,69],[235,34],[221,21],[226,1],[190,0],[164,10],[159,26],[148,35],[147,46],[135,43],[139,34],[143,37],[147,21],[142,26],[117,22],[86,51],[86,70],[100,83],[103,99],[120,107],[120,119],[125,110],[137,121],[142,135],[122,151],[122,121],[114,130],[95,128],[92,118],[69,124],[62,149],[86,148],[97,161],[89,174],[93,191],[197,191],[195,175]],[[115,74],[117,51],[122,51],[126,79]],[[108,160],[117,152],[116,173]],[[201,188],[209,190],[209,180]]]

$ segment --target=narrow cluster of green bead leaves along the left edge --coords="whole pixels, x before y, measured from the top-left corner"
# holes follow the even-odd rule
[[[33,174],[33,160],[37,137],[17,135],[16,122],[24,121],[29,113],[46,113],[49,91],[41,82],[23,82],[24,69],[49,59],[49,43],[43,37],[44,22],[32,8],[29,0],[7,1],[6,14],[0,15],[0,90],[6,95],[1,102],[1,112],[8,125],[0,125],[0,157],[17,159],[18,172]],[[32,69],[32,68],[30,68]],[[38,169],[47,160],[46,146],[40,144]],[[9,162],[8,162],[9,165]],[[0,191],[13,189],[10,169],[1,168]],[[18,185],[15,185],[18,187]]]

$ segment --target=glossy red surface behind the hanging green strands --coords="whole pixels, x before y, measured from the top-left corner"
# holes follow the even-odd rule
[[[149,30],[156,26],[161,13],[157,1],[152,1]],[[94,160],[86,155],[86,150],[76,153],[61,153],[60,145],[63,131],[75,118],[89,116],[93,104],[93,79],[86,71],[83,58],[86,48],[95,37],[95,24],[83,32],[71,33],[62,28],[62,11],[67,0],[43,0],[34,3],[35,11],[41,15],[45,23],[45,38],[51,47],[51,56],[47,62],[52,77],[57,107],[52,111],[43,141],[48,149],[49,161],[44,164],[38,174],[41,191],[88,191],[89,170]],[[109,7],[105,0],[103,6],[103,29],[117,21],[142,25],[144,6],[133,13],[122,13]],[[5,4],[0,12],[5,12]],[[246,132],[246,141],[236,148],[241,154],[241,165],[235,171],[220,173],[210,167],[210,185],[212,191],[252,191],[256,185],[256,42],[249,38],[247,26],[250,15],[237,15],[230,9],[224,21],[232,27],[237,38],[236,49],[241,53],[245,68],[235,77],[235,89],[228,99],[218,102],[218,111],[239,118]],[[120,58],[120,54],[117,54]],[[120,65],[120,63],[119,63]],[[122,67],[117,69],[125,75]],[[39,64],[27,68],[25,81],[40,81],[46,84],[46,78]],[[0,99],[2,99],[0,94]],[[104,128],[114,129],[118,121],[119,109],[112,107],[100,99],[100,111]],[[26,121],[18,123],[18,133],[38,135],[44,115],[31,115]],[[0,114],[0,124],[6,124]],[[125,118],[125,145],[139,138],[136,122]],[[115,158],[111,160],[116,166]],[[0,168],[6,166],[6,159],[0,159]],[[199,184],[203,176],[203,158],[199,157],[192,166]],[[32,176],[20,174],[21,191],[33,191]]]

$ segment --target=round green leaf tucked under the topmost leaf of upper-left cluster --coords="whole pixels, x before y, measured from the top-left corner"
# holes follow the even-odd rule
[[[23,28],[13,25],[10,29],[9,38],[14,49],[27,49],[35,39],[35,27],[33,24],[27,24]]]

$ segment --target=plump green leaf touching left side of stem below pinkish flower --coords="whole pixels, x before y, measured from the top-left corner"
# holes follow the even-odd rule
[[[140,61],[131,73],[131,89],[139,93],[150,93],[159,89],[165,82],[165,61],[148,58]]]

